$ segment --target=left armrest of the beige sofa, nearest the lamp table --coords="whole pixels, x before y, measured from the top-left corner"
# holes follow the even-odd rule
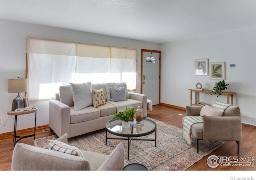
[[[70,107],[58,100],[50,100],[49,127],[60,137],[65,133],[69,135],[69,126]]]

